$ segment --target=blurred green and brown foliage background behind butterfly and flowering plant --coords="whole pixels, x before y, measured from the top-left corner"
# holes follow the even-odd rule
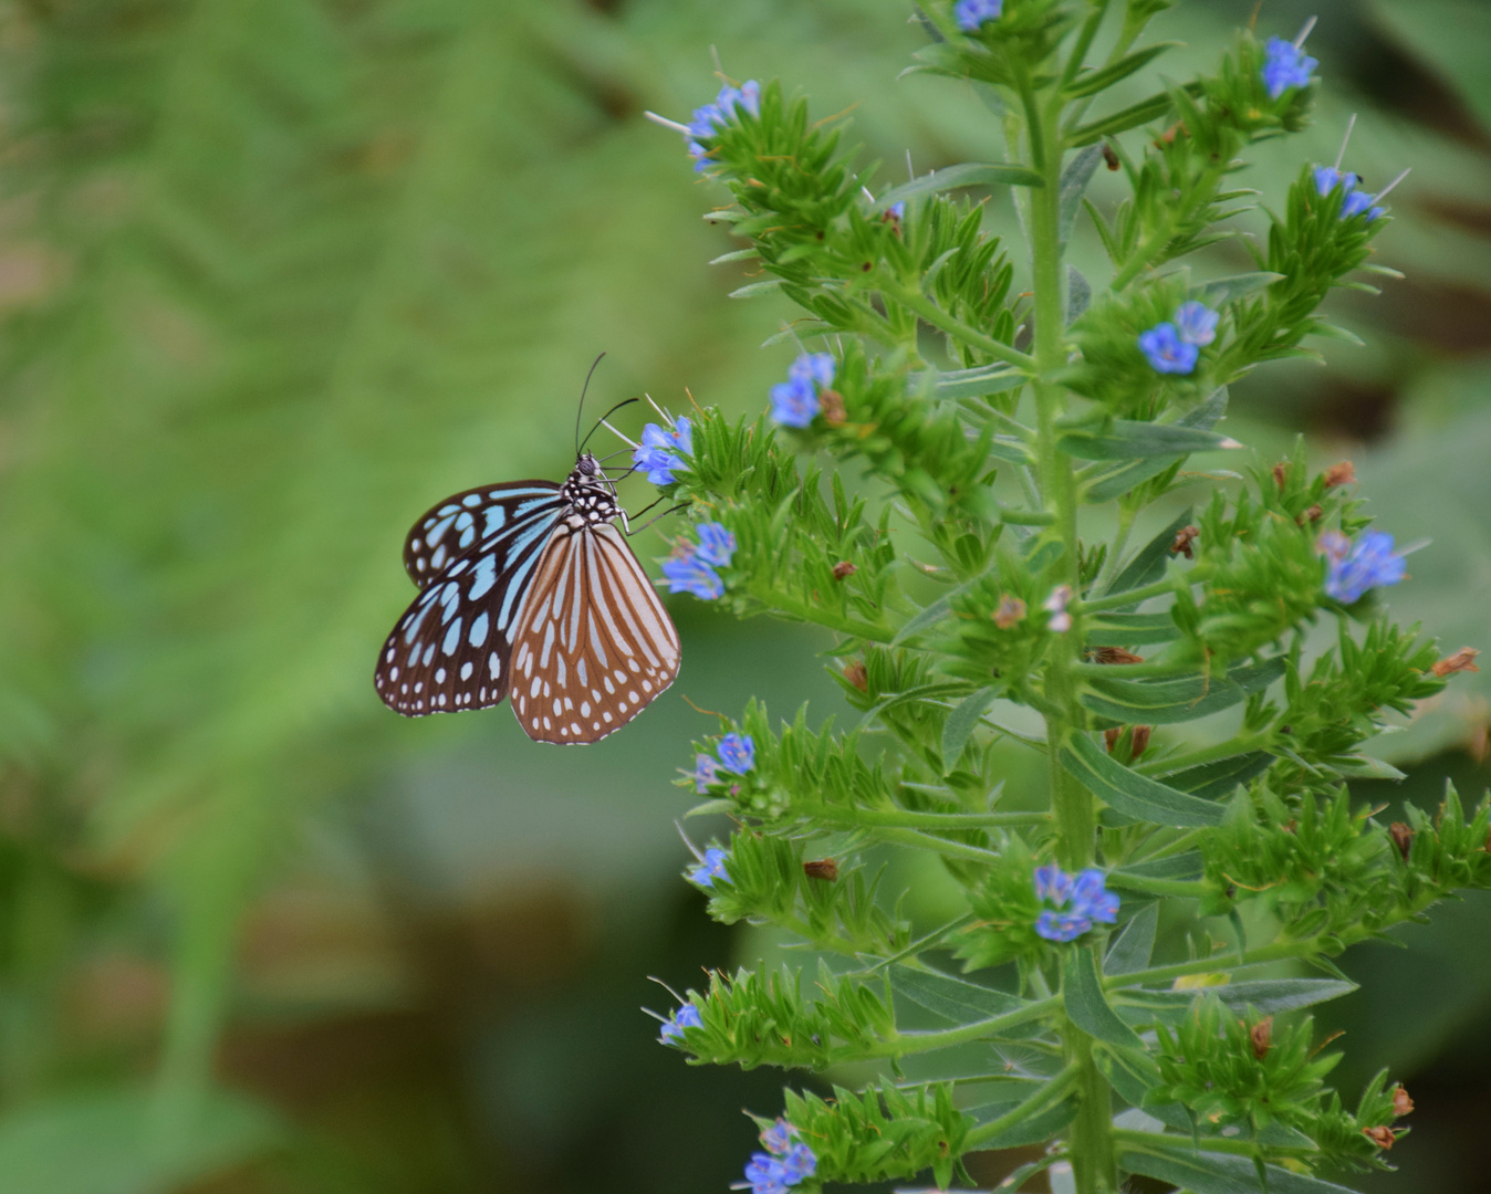
[[[1255,7],[1264,34],[1320,15],[1324,92],[1246,185],[1278,203],[1358,112],[1346,165],[1372,189],[1413,167],[1378,241],[1408,277],[1340,292],[1367,347],[1260,371],[1229,431],[1264,461],[1299,431],[1355,461],[1381,525],[1433,540],[1394,611],[1488,647],[1491,4],[1193,0],[1156,27],[1187,43],[1166,73]],[[699,219],[723,192],[641,116],[713,95],[711,48],[820,115],[857,104],[881,179],[908,149],[918,171],[997,155],[965,89],[895,82],[907,12],[0,4],[0,1194],[738,1178],[740,1109],[775,1111],[783,1076],[689,1069],[638,1008],[671,1005],[649,975],[681,988],[775,945],[678,879],[669,781],[714,724],[696,708],[838,711],[825,639],[677,604],[678,683],[583,751],[505,710],[404,721],[370,677],[412,519],[562,477],[598,352],[592,401],[675,410],[756,410],[786,364],[757,346],[787,309],[729,301],[740,267],[705,264],[732,247]],[[1102,279],[1093,239],[1074,255]],[[1446,775],[1481,796],[1491,668],[1464,680],[1379,744],[1410,778],[1363,797],[1431,806]],[[907,874],[935,914],[936,875]],[[1349,954],[1364,987],[1325,1011],[1351,1097],[1390,1064],[1418,1102],[1373,1191],[1487,1188],[1484,896],[1406,953]]]

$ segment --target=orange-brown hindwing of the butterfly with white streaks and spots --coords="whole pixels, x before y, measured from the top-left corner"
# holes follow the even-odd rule
[[[611,523],[559,528],[513,635],[513,713],[540,742],[595,742],[678,675],[678,632]]]

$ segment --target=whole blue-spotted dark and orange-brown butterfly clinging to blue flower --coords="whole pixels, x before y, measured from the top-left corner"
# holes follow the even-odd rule
[[[579,452],[562,484],[455,493],[404,540],[420,593],[394,626],[373,683],[406,717],[511,696],[540,742],[595,742],[678,675],[678,632],[617,520],[614,483]]]

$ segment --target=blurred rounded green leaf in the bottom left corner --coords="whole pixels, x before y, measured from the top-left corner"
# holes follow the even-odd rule
[[[154,1127],[149,1088],[70,1094],[0,1116],[0,1187],[25,1194],[160,1194],[206,1185],[283,1143],[262,1105],[215,1090],[189,1130]]]

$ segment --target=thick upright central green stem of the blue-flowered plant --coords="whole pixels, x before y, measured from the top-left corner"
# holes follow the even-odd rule
[[[1035,404],[1038,416],[1036,476],[1041,481],[1044,507],[1054,516],[1047,534],[1062,544],[1059,575],[1078,593],[1077,541],[1077,478],[1072,461],[1059,446],[1059,420],[1066,413],[1066,391],[1056,377],[1066,367],[1066,313],[1062,301],[1062,237],[1060,179],[1062,139],[1060,100],[1050,100],[1041,110],[1041,98],[1033,92],[1024,70],[1018,72],[1020,94],[1024,101],[1026,128],[1030,139],[1030,159],[1045,176],[1045,186],[1030,189],[1030,259],[1035,289]],[[1047,656],[1045,714],[1047,742],[1059,745],[1082,729],[1075,668],[1082,642],[1081,628],[1074,625],[1056,641]],[[1048,769],[1051,814],[1056,826],[1057,860],[1069,871],[1091,865],[1097,836],[1097,809],[1087,792],[1065,768]],[[1111,1194],[1118,1188],[1118,1167],[1112,1148],[1112,1094],[1108,1079],[1093,1060],[1093,1040],[1075,1024],[1062,1032],[1063,1048],[1074,1079],[1081,1091],[1077,1119],[1072,1124],[1072,1167],[1077,1194]]]

